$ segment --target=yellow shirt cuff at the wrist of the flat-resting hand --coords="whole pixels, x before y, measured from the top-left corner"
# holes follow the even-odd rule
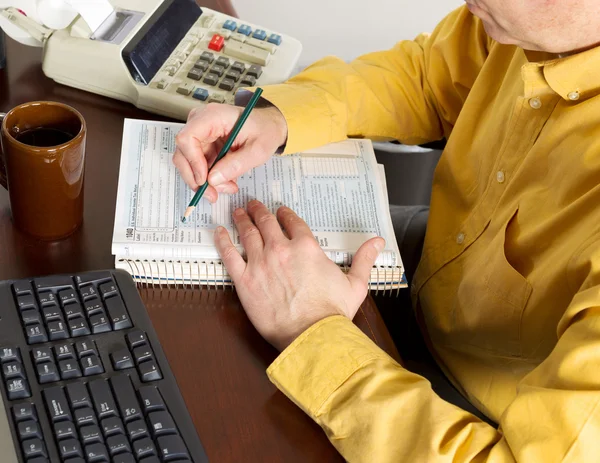
[[[352,374],[380,358],[392,360],[352,321],[336,315],[298,336],[269,366],[267,375],[315,419],[324,402]]]

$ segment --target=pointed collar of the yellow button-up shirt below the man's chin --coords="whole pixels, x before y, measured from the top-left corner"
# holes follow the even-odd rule
[[[600,94],[600,46],[564,58],[532,51],[525,51],[525,56],[543,68],[548,85],[563,99],[584,100]]]

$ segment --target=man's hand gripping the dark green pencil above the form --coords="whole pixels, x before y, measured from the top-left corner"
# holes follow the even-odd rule
[[[185,127],[177,134],[173,163],[193,190],[206,182],[208,168],[242,111],[243,108],[211,103],[190,112]],[[215,202],[218,192],[236,193],[235,179],[263,164],[286,139],[287,122],[277,108],[252,111],[230,152],[210,172],[206,198]]]

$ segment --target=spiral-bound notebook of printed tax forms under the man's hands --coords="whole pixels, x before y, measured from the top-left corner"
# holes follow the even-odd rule
[[[213,235],[227,228],[243,253],[232,212],[251,199],[271,211],[286,205],[302,217],[326,255],[348,271],[369,238],[386,248],[371,271],[370,289],[406,287],[389,213],[383,167],[370,140],[351,139],[287,156],[273,156],[238,179],[239,192],[203,198],[181,222],[193,195],[172,163],[183,124],[126,119],[112,241],[115,267],[141,285],[231,286]]]

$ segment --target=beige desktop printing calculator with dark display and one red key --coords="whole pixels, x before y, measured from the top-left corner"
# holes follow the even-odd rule
[[[44,47],[48,77],[180,120],[206,103],[233,103],[240,87],[286,80],[302,51],[292,37],[195,0],[58,0],[71,15],[61,29],[48,27],[61,24],[56,14],[49,21],[40,13],[48,16],[39,7],[47,0],[29,0],[39,3],[29,13],[2,9],[3,1],[0,27]],[[93,4],[100,16],[79,3]]]

